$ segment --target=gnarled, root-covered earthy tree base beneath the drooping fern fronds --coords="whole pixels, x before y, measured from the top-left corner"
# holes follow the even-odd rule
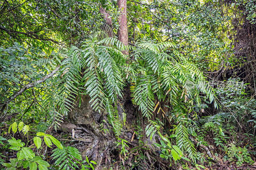
[[[132,104],[130,86],[127,85],[123,90],[123,98],[120,99],[118,113],[122,111],[126,113],[126,124],[123,126],[123,131],[119,138],[127,140],[126,147],[128,153],[120,154],[121,145],[116,146],[117,138],[113,133],[111,124],[108,123],[107,113],[98,113],[91,109],[89,96],[82,96],[81,106],[79,101],[72,106],[72,110],[68,113],[68,118],[71,123],[61,124],[58,133],[69,134],[68,138],[63,140],[66,145],[72,142],[72,145],[79,149],[82,157],[86,156],[89,159],[97,162],[95,170],[110,169],[115,166],[115,169],[130,169],[133,166],[136,169],[169,169],[168,160],[160,158],[160,150],[154,145],[156,139],[150,141],[148,138],[144,141],[145,146],[140,144],[139,136],[137,136],[137,108]],[[121,112],[119,112],[121,111]],[[60,138],[62,135],[59,135]],[[57,136],[56,136],[57,138]],[[141,138],[140,138],[141,140]],[[121,141],[119,141],[121,142]],[[147,148],[140,150],[138,146]],[[144,155],[141,159],[140,155]],[[116,163],[113,164],[113,161]],[[117,167],[117,168],[116,168]]]

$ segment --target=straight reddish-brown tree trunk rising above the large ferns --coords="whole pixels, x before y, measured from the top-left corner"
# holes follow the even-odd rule
[[[117,32],[118,40],[121,41],[125,46],[128,45],[128,27],[127,27],[127,0],[117,0],[117,6],[121,11],[119,16],[119,28]],[[129,54],[128,50],[123,51],[124,54]]]

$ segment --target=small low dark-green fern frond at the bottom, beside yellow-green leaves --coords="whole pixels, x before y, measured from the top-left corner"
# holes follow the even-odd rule
[[[79,161],[82,161],[82,157],[78,149],[71,146],[63,147],[63,149],[54,149],[51,157],[53,157],[52,159],[56,159],[54,165],[59,166],[59,169],[62,170],[79,168]]]

